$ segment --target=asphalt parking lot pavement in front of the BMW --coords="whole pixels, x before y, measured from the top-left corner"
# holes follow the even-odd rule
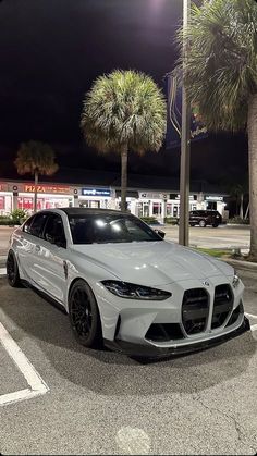
[[[2,278],[0,453],[256,454],[257,281],[241,275],[252,332],[144,363],[81,347],[60,309]]]

